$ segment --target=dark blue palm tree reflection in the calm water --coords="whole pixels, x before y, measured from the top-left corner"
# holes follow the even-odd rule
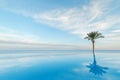
[[[107,73],[106,70],[108,67],[103,67],[97,64],[95,55],[93,55],[94,61],[92,64],[87,65],[87,68],[90,68],[89,72],[92,72],[95,75],[103,75]]]

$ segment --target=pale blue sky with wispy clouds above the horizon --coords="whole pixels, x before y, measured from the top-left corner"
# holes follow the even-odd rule
[[[120,50],[120,0],[0,0],[0,50]]]

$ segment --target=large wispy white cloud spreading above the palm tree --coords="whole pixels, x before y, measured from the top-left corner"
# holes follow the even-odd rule
[[[84,36],[87,32],[107,30],[120,22],[116,15],[107,14],[110,0],[91,0],[82,8],[56,9],[45,13],[36,13],[32,18],[37,22]]]

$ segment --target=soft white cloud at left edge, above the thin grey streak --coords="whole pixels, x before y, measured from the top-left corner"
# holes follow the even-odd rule
[[[0,41],[33,43],[39,42],[39,38],[34,35],[24,34],[20,31],[0,26]]]

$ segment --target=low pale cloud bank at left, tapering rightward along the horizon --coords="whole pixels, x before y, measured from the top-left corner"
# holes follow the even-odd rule
[[[30,49],[30,50],[53,50],[53,49],[79,49],[79,46],[46,43],[38,36],[28,35],[20,31],[0,26],[0,49]]]

